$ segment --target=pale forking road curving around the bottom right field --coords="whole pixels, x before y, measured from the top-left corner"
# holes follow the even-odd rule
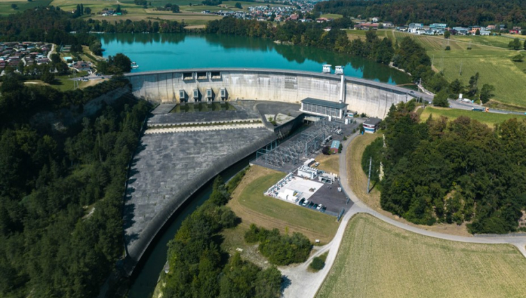
[[[338,227],[338,230],[333,240],[331,240],[327,245],[319,247],[319,249],[305,263],[302,263],[295,267],[289,266],[285,268],[280,268],[282,274],[287,278],[287,282],[285,283],[285,289],[283,291],[284,297],[311,298],[316,295],[318,289],[321,287],[321,284],[324,282],[328,272],[330,271],[330,268],[333,267],[333,263],[335,261],[337,252],[340,249],[340,244],[342,243],[347,223],[349,222],[349,220],[351,220],[351,217],[353,217],[353,215],[356,215],[357,213],[368,213],[378,218],[379,220],[383,220],[384,222],[392,224],[393,226],[397,226],[400,229],[404,229],[421,235],[427,235],[429,237],[459,242],[511,244],[516,246],[520,253],[523,254],[523,256],[525,256],[526,258],[525,236],[502,235],[495,237],[479,238],[447,235],[433,231],[426,231],[423,229],[419,229],[416,226],[410,226],[402,222],[397,222],[397,220],[393,220],[390,217],[386,217],[385,215],[382,215],[373,210],[372,208],[366,206],[362,201],[360,201],[360,199],[358,199],[358,197],[356,197],[356,194],[354,194],[354,192],[351,190],[351,187],[347,181],[347,167],[345,159],[346,151],[349,149],[349,143],[357,137],[359,138],[358,133],[352,135],[348,140],[346,140],[346,142],[344,142],[344,150],[342,151],[342,154],[340,154],[340,181],[347,196],[354,202],[354,204],[342,218],[342,222],[340,223],[340,226]],[[312,258],[314,258],[315,256],[320,256],[326,251],[329,251],[329,253],[325,261],[326,265],[324,269],[316,273],[308,272],[307,267],[310,264]]]

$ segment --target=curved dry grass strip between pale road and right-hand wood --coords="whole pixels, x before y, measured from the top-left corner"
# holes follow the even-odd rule
[[[367,175],[362,169],[362,156],[365,147],[371,144],[376,138],[381,138],[380,133],[366,133],[365,135],[358,135],[351,144],[349,149],[346,151],[345,160],[347,161],[347,181],[356,196],[364,202],[367,206],[374,209],[376,212],[381,213],[387,217],[403,222],[410,226],[418,226],[420,229],[427,231],[435,231],[439,233],[446,233],[452,235],[470,236],[468,229],[465,224],[460,226],[456,224],[434,224],[433,226],[420,226],[413,224],[398,217],[392,215],[392,213],[385,211],[380,206],[380,191],[377,188],[373,188],[369,194],[367,194]]]

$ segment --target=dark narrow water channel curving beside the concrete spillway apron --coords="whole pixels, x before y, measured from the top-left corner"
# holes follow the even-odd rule
[[[253,154],[240,160],[238,163],[221,172],[221,176],[227,181],[241,171],[241,169],[248,166],[250,159],[254,157],[255,155]],[[151,297],[155,285],[157,285],[159,274],[166,264],[168,242],[174,238],[183,220],[210,197],[210,194],[212,194],[212,182],[213,181],[209,181],[209,183],[198,190],[198,192],[189,197],[186,203],[173,215],[170,222],[159,231],[159,234],[143,256],[143,260],[141,260],[138,267],[136,267],[134,272],[135,277],[129,290],[129,298]]]

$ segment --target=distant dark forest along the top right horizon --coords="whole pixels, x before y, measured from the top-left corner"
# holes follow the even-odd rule
[[[521,0],[330,0],[316,3],[314,10],[346,17],[379,17],[404,25],[413,22],[448,26],[505,24],[526,27],[526,2]]]

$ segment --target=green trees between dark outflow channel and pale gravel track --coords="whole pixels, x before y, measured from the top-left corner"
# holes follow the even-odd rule
[[[239,183],[242,175],[244,172],[232,179],[234,183]],[[242,260],[239,252],[229,258],[220,247],[218,233],[239,223],[225,206],[230,199],[228,190],[234,188],[225,186],[221,176],[216,177],[210,198],[184,220],[169,242],[170,272],[163,297],[280,297],[282,277],[276,267],[263,270]]]

